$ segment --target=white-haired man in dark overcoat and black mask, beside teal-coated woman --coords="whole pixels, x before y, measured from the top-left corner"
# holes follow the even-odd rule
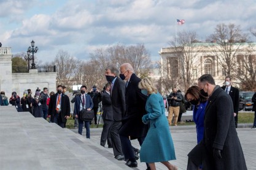
[[[141,93],[141,89],[138,87],[141,79],[134,74],[131,64],[125,63],[120,66],[120,78],[126,80],[126,112],[122,119],[122,127],[119,130],[119,135],[123,153],[125,154],[125,158],[128,159],[126,165],[137,167],[138,165],[130,139],[138,139],[139,144],[142,145],[147,135],[148,125],[142,122],[147,96]]]

